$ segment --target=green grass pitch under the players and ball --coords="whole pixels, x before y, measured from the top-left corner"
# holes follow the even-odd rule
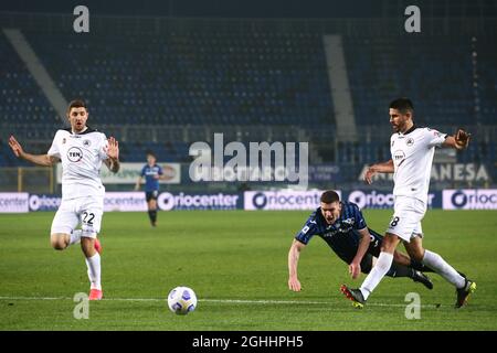
[[[104,300],[89,318],[73,315],[77,292],[88,291],[80,246],[50,247],[53,213],[0,215],[0,330],[497,330],[497,212],[431,210],[424,245],[477,282],[469,304],[453,308],[454,288],[430,274],[427,290],[385,278],[363,310],[339,291],[358,286],[320,238],[299,261],[302,292],[287,288],[287,252],[309,212],[106,213],[103,221]],[[389,210],[364,210],[382,233]],[[199,298],[194,312],[171,313],[176,286]],[[406,319],[405,296],[417,292],[421,318]],[[440,304],[440,306],[438,306]]]

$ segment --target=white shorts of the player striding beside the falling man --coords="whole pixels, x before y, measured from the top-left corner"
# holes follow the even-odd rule
[[[405,242],[415,236],[423,236],[421,220],[426,213],[426,204],[421,200],[409,196],[395,196],[393,216],[387,233],[394,234]]]

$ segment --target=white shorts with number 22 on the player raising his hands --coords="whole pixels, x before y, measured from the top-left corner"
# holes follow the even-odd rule
[[[87,196],[62,200],[52,222],[51,234],[71,234],[81,223],[83,237],[95,238],[101,232],[104,197]]]

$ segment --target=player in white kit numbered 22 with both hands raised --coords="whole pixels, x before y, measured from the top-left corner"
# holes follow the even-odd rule
[[[91,282],[89,300],[99,300],[102,247],[97,234],[105,195],[99,170],[102,162],[114,173],[119,170],[119,145],[86,126],[88,111],[83,100],[71,101],[66,114],[71,128],[56,131],[46,154],[27,153],[13,136],[9,146],[18,158],[38,165],[62,161],[62,202],[52,222],[50,240],[57,250],[81,242]],[[76,229],[80,223],[81,229]]]

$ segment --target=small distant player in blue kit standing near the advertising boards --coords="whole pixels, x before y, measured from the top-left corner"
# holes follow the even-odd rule
[[[152,227],[157,226],[157,197],[159,196],[159,180],[165,179],[162,167],[157,164],[156,154],[147,152],[147,164],[141,169],[141,174],[135,185],[140,190],[141,179],[145,178],[145,199],[147,200],[148,217]]]

